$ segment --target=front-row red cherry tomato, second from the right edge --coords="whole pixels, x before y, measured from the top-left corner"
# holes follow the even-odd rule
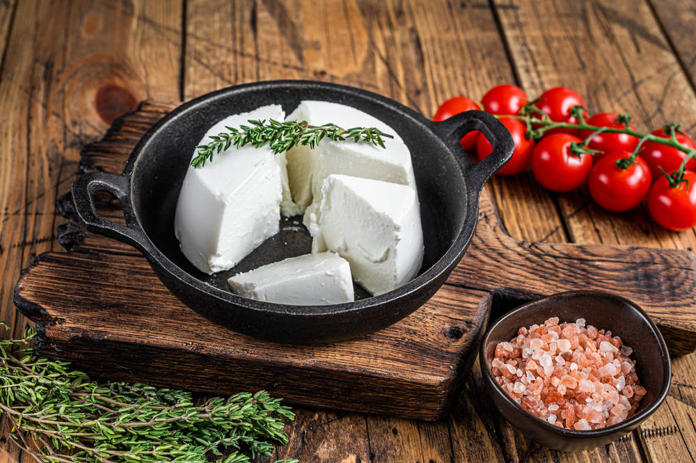
[[[631,210],[648,196],[652,175],[640,156],[635,157],[635,164],[625,169],[616,165],[619,159],[628,159],[632,154],[632,150],[608,152],[592,167],[588,181],[590,195],[595,203],[606,210]]]

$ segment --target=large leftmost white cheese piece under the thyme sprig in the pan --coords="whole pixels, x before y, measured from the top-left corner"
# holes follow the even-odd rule
[[[284,115],[277,104],[235,114],[211,127],[198,144],[227,132],[225,126],[248,125],[250,119],[282,120]],[[268,146],[231,146],[203,167],[189,166],[174,228],[184,256],[200,271],[212,274],[230,269],[278,233],[284,160]]]

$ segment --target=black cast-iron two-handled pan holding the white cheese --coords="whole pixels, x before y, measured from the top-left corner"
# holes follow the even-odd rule
[[[174,235],[177,198],[193,151],[205,132],[234,113],[281,104],[290,113],[301,100],[347,104],[394,128],[409,149],[416,175],[425,258],[420,274],[397,290],[331,306],[287,306],[235,295],[227,278],[283,258],[310,252],[301,220],[283,221],[267,240],[230,272],[208,276],[184,257]],[[493,153],[473,165],[459,145],[481,130]],[[434,123],[386,97],[314,81],[271,81],[216,91],[182,104],[155,124],[130,155],[122,175],[88,173],[72,186],[87,230],[142,251],[173,294],[212,322],[264,340],[328,343],[356,338],[401,320],[445,282],[473,236],[484,183],[512,156],[514,143],[496,118],[468,111]],[[120,200],[127,226],[98,216],[92,195],[109,191]]]

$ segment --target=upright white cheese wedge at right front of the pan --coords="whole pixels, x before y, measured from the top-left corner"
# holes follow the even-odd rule
[[[350,262],[353,278],[375,296],[418,274],[423,234],[413,188],[329,175],[322,193],[313,252],[338,253]]]

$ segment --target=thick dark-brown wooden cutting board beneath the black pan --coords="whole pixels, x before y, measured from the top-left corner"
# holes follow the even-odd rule
[[[81,171],[120,173],[148,128],[174,108],[144,102],[82,152]],[[97,209],[122,221],[118,201]],[[263,343],[189,310],[127,244],[88,235],[70,198],[58,240],[23,273],[15,305],[37,322],[38,354],[90,375],[233,393],[267,389],[287,402],[435,420],[448,413],[493,317],[554,292],[615,292],[644,308],[672,354],[696,350],[696,257],[689,251],[513,240],[487,192],[464,259],[435,297],[392,327],[322,346]]]

